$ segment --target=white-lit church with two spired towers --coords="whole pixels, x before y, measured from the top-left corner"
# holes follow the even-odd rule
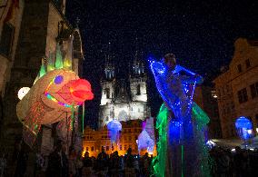
[[[147,76],[144,64],[138,58],[138,52],[130,69],[133,73],[129,76],[129,82],[125,82],[124,79],[117,80],[114,64],[110,62],[108,56],[104,66],[104,79],[101,81],[99,127],[103,127],[113,119],[126,122],[144,120],[151,115],[147,102]]]

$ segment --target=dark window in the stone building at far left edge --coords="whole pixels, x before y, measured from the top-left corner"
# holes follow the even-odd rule
[[[9,57],[11,53],[14,31],[15,27],[13,25],[5,24],[3,26],[0,41],[0,53],[4,54],[6,57]]]

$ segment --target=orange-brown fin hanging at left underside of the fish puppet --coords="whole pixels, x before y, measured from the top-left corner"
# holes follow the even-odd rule
[[[45,107],[42,102],[35,102],[25,116],[23,139],[26,144],[32,147],[35,143],[38,132],[41,129],[41,122],[45,115]]]

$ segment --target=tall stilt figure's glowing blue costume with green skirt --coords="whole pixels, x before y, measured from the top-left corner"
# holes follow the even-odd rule
[[[193,103],[195,84],[202,84],[203,78],[179,65],[171,72],[162,62],[152,60],[150,65],[164,100],[156,123],[159,142],[155,176],[208,176],[203,131],[209,118]]]

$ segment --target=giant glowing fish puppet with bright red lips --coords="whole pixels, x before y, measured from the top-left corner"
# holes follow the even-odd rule
[[[46,73],[16,105],[18,119],[24,124],[25,143],[34,143],[42,124],[73,116],[74,109],[93,98],[91,84],[73,71],[55,69]]]

